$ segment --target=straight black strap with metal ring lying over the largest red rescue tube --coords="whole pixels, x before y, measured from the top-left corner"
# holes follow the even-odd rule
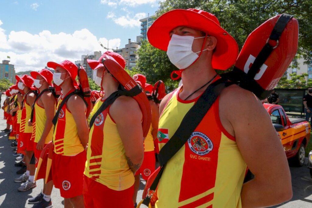
[[[278,18],[272,32],[270,35],[271,40],[278,41],[280,39],[280,36],[282,35],[287,23],[292,19],[293,16],[289,14],[281,14]],[[278,43],[276,43],[278,44]],[[276,45],[277,46],[277,45]],[[256,74],[258,73],[260,67],[264,64],[264,62],[267,60],[267,58],[270,56],[271,52],[275,46],[271,46],[269,42],[266,43],[266,45],[263,46],[262,50],[256,57],[254,63],[251,65],[247,75],[254,79]]]

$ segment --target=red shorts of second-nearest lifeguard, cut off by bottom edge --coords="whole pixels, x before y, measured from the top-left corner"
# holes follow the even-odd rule
[[[115,191],[86,176],[83,180],[85,208],[134,207],[134,185],[123,191]]]

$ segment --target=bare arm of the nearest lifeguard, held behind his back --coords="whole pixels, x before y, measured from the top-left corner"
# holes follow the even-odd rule
[[[222,124],[230,122],[241,155],[255,175],[242,186],[242,206],[266,207],[290,200],[291,177],[284,148],[261,102],[251,92],[231,86],[221,95],[220,106]]]

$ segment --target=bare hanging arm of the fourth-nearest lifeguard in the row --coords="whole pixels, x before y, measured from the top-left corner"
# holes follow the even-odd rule
[[[37,149],[42,150],[44,148],[44,144],[46,143],[46,137],[48,136],[49,132],[51,131],[51,128],[53,127],[52,120],[55,115],[55,97],[51,92],[44,93],[41,95],[41,98],[38,100],[38,102],[41,101],[44,111],[46,113],[46,123],[44,125],[44,129],[41,135],[40,140],[37,144]]]

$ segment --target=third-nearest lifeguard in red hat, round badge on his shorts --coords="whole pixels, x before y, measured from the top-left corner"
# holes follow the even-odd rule
[[[53,83],[62,88],[53,133],[53,183],[65,198],[65,206],[83,207],[82,184],[89,129],[85,119],[86,104],[75,94],[78,68],[69,60],[61,63],[50,61],[47,66],[55,69]],[[60,106],[62,103],[64,105]]]

